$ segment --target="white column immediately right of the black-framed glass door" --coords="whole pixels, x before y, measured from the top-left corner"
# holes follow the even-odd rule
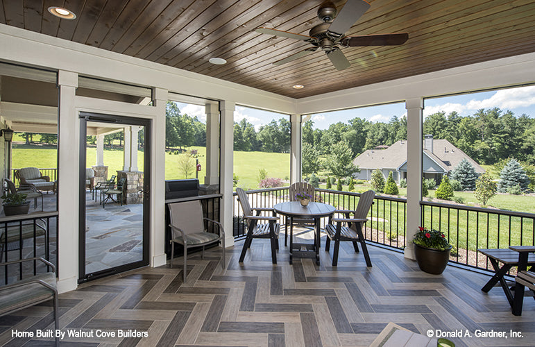
[[[167,90],[153,89],[153,105],[158,108],[158,117],[152,124],[151,141],[151,254],[150,264],[153,267],[165,265],[165,103]],[[146,130],[145,130],[146,131]]]

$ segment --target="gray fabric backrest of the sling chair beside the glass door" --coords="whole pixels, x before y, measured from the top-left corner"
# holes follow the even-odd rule
[[[180,228],[185,234],[205,231],[203,222],[203,206],[200,200],[183,203],[169,203],[169,221]],[[180,231],[173,230],[173,239],[180,236]]]

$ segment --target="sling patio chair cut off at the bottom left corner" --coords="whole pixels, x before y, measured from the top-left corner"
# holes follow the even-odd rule
[[[52,271],[23,278],[10,285],[0,287],[0,316],[5,316],[6,314],[17,312],[24,308],[37,305],[38,303],[52,300],[54,325],[56,330],[58,330],[60,328],[60,320],[58,319],[59,308],[56,266],[41,257],[33,257],[12,262],[3,262],[0,263],[0,267],[34,260],[39,260],[44,262],[44,264],[51,266]],[[56,337],[56,346],[60,346],[58,337]]]

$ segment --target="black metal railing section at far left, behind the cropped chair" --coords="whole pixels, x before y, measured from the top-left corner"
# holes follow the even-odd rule
[[[58,269],[57,245],[58,212],[33,213],[0,219],[0,263],[43,257]],[[22,279],[29,273],[35,275],[41,268],[49,270],[49,266],[37,261],[0,266],[0,278],[3,284],[6,284],[17,278]]]

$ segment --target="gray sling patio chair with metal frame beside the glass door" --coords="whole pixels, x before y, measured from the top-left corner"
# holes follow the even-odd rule
[[[219,221],[214,221],[203,217],[203,206],[200,200],[184,201],[182,203],[169,203],[169,219],[171,223],[171,260],[169,267],[173,266],[175,246],[173,243],[184,246],[184,282],[187,276],[187,250],[191,247],[203,247],[201,258],[204,258],[204,248],[209,244],[216,244],[221,241],[223,256],[221,257],[221,267],[225,269],[225,230]],[[207,232],[204,221],[214,223],[219,227],[219,235]]]

